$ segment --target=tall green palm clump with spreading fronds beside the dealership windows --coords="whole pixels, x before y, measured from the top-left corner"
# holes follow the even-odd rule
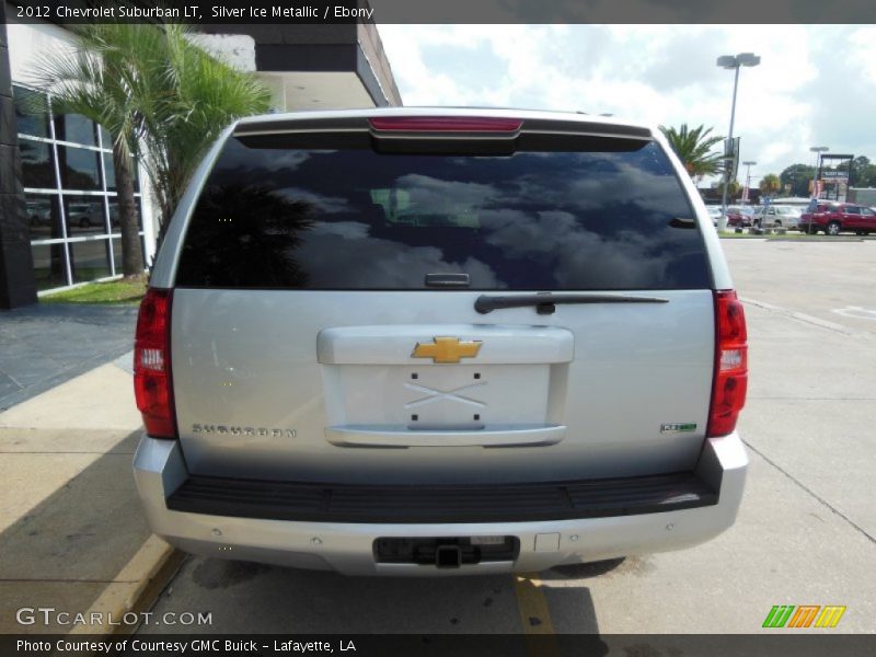
[[[270,92],[195,45],[184,25],[88,24],[74,35],[73,56],[43,57],[34,77],[62,112],[113,136],[123,273],[139,275],[131,155],[140,157],[158,200],[160,241],[209,146],[235,118],[266,112]]]

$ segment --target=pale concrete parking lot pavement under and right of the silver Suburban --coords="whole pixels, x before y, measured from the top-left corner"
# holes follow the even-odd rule
[[[838,604],[831,632],[874,632],[876,241],[722,243],[750,344],[751,464],[730,531],[525,576],[364,579],[189,557],[153,611],[211,612],[181,632],[688,634],[760,632],[775,604]]]

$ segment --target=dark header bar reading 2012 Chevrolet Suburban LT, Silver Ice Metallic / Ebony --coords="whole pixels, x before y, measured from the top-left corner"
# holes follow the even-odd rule
[[[13,0],[10,22],[209,24],[844,24],[872,0]]]

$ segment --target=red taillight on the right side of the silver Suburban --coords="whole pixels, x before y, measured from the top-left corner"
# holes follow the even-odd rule
[[[715,376],[706,437],[736,428],[748,389],[748,332],[742,303],[734,290],[715,291]]]

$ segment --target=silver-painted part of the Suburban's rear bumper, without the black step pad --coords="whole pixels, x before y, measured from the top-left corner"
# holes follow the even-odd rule
[[[745,448],[736,434],[705,441],[696,469],[719,489],[716,506],[586,520],[457,525],[290,522],[170,511],[165,496],[181,483],[181,473],[185,476],[182,453],[178,443],[148,436],[142,438],[135,456],[134,473],[152,531],[186,552],[334,569],[347,575],[447,576],[537,572],[561,564],[696,545],[733,525],[742,497],[747,464]],[[560,533],[558,550],[537,551],[535,537],[552,533]],[[372,544],[379,537],[436,535],[516,535],[520,539],[520,555],[512,563],[452,569],[374,563]]]

